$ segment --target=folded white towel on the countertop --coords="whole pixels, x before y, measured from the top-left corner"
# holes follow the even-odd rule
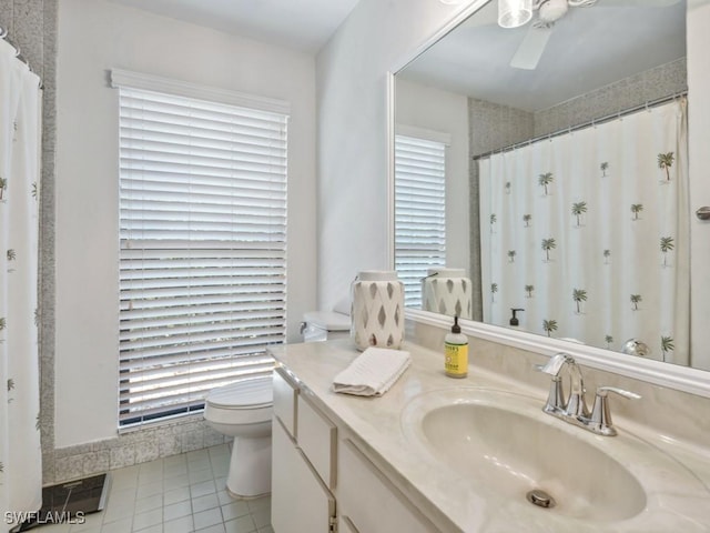
[[[407,370],[409,352],[371,346],[333,380],[333,390],[359,396],[382,396]]]

